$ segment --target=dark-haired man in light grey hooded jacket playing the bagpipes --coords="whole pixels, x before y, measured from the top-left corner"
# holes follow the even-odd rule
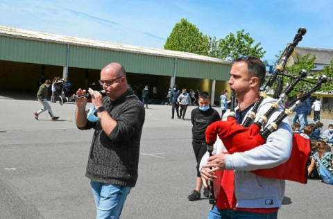
[[[259,87],[265,73],[265,66],[258,58],[243,57],[234,60],[229,85],[239,103],[235,114],[237,123],[241,124],[244,121],[248,111],[259,99]],[[255,114],[256,120],[271,108],[273,101],[273,98],[264,98]],[[272,123],[281,112],[282,106],[271,114],[267,124]],[[227,116],[228,114],[225,114],[223,118]],[[230,127],[231,130],[225,132],[232,132],[232,123]],[[230,137],[231,142],[232,137]],[[246,147],[247,140],[244,138],[237,143]],[[219,170],[224,170],[222,182],[219,184],[222,186],[214,188],[215,191],[219,189],[221,191],[208,218],[253,218],[254,216],[277,218],[278,209],[284,198],[285,180],[260,177],[251,171],[275,168],[286,162],[291,155],[292,143],[293,135],[287,117],[282,120],[275,132],[269,134],[266,142],[253,149],[226,154],[223,148],[228,148],[225,146],[228,143],[216,141],[214,145],[216,155],[209,157],[207,153],[200,164],[201,175],[207,180],[216,181],[216,175],[221,174]]]

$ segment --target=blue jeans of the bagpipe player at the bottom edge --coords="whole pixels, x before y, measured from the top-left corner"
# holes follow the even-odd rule
[[[278,211],[274,213],[254,213],[248,211],[237,211],[232,209],[217,209],[216,205],[208,213],[208,219],[276,219],[278,218]]]

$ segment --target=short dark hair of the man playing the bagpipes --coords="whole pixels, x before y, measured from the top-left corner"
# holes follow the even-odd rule
[[[266,67],[264,62],[255,56],[242,56],[234,60],[234,63],[236,62],[246,62],[246,64],[248,64],[249,76],[258,77],[260,85],[262,84],[266,75]]]

